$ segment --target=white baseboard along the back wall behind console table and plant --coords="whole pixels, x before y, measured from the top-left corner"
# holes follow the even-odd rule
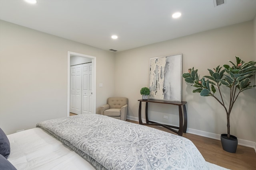
[[[133,121],[139,121],[138,117],[127,116],[127,119],[133,120]],[[142,119],[142,122],[146,123],[146,119]],[[157,122],[157,121],[155,121],[155,122]],[[166,124],[166,123],[162,123],[162,122],[157,122],[157,123]],[[166,124],[166,125],[168,125],[168,124]],[[174,125],[174,126],[176,126],[176,125]],[[202,136],[202,137],[208,137],[208,138],[216,139],[216,140],[220,141],[220,135],[215,134],[215,133],[200,131],[200,130],[191,129],[191,128],[187,128],[187,133],[191,133],[191,134]],[[254,150],[256,152],[256,142],[247,141],[244,139],[238,139],[238,145],[254,148]]]

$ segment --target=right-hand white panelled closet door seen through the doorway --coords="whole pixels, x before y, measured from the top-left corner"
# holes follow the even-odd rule
[[[82,64],[82,113],[92,113],[92,63]]]

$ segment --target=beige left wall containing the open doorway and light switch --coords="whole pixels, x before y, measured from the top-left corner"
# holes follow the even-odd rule
[[[67,115],[68,51],[96,57],[96,107],[114,94],[114,53],[0,20],[0,127]]]

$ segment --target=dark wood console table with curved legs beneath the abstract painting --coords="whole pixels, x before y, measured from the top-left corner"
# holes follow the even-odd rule
[[[139,123],[140,125],[156,125],[156,126],[162,126],[165,127],[166,129],[169,129],[170,131],[173,131],[174,133],[177,133],[179,136],[182,136],[183,133],[186,133],[187,131],[187,111],[186,111],[186,106],[185,104],[187,102],[172,102],[172,101],[166,101],[166,100],[152,100],[152,99],[148,99],[148,100],[138,100],[140,102],[140,106],[139,106]],[[146,102],[146,123],[142,123],[141,120],[141,103],[142,102]],[[179,106],[179,118],[180,118],[180,125],[179,127],[177,126],[171,126],[171,125],[164,125],[164,124],[160,124],[160,123],[156,123],[154,121],[149,121],[148,120],[148,103],[160,103],[160,104],[172,104],[172,105],[177,105]],[[183,111],[184,113],[182,113],[182,107],[183,106]],[[183,123],[183,116],[184,116],[184,123]],[[179,129],[174,130],[174,129]]]

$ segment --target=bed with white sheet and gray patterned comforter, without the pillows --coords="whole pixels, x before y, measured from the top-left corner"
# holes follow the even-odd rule
[[[42,121],[7,135],[18,170],[224,170],[188,139],[98,114]]]

